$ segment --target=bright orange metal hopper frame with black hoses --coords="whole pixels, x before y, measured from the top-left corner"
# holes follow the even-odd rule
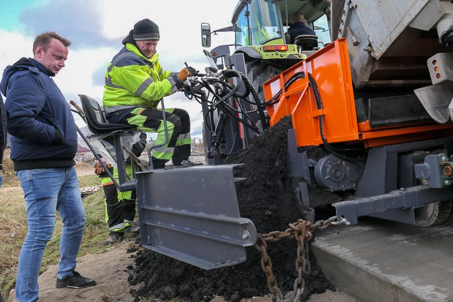
[[[304,71],[305,79],[296,80],[284,89],[285,82],[296,72]],[[307,72],[318,85],[323,104],[318,110],[309,87]],[[292,116],[298,146],[320,145],[319,116],[323,115],[323,130],[330,143],[362,142],[365,147],[395,144],[453,135],[453,124],[424,122],[371,129],[368,121],[357,123],[355,102],[346,39],[339,39],[304,61],[286,69],[263,85],[265,100],[282,89],[278,103],[267,107],[270,125],[282,117]]]

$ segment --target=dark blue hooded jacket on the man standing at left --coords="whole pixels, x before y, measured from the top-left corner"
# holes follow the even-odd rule
[[[70,167],[77,153],[77,129],[69,106],[50,77],[32,58],[6,67],[0,92],[6,97],[14,170]]]

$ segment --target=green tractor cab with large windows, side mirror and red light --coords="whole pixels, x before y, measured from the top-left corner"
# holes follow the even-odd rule
[[[292,14],[296,11],[304,14],[308,26],[315,30],[322,45],[330,43],[330,2],[323,0],[240,0],[233,13],[233,26],[212,33],[216,35],[218,32],[235,32],[235,44],[231,45],[236,47],[233,54],[243,53],[246,62],[256,59],[272,60],[288,68],[307,58],[307,54],[310,55],[304,53],[300,47],[289,44],[287,28],[291,25]],[[210,34],[209,25],[203,23],[204,47],[210,47]],[[264,46],[270,45],[287,45],[288,49],[264,49]],[[215,58],[215,49],[213,52]],[[222,54],[218,53],[218,56]]]

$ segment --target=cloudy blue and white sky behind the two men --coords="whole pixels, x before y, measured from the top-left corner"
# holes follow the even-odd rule
[[[66,66],[54,78],[67,101],[79,102],[78,94],[102,103],[107,64],[123,47],[122,39],[144,18],[156,22],[161,40],[157,51],[164,69],[179,71],[184,62],[198,70],[208,65],[200,38],[202,22],[212,29],[231,25],[236,0],[0,0],[0,69],[21,57],[32,57],[37,34],[53,30],[69,39]],[[126,5],[127,3],[127,5]],[[220,0],[218,0],[220,3]],[[234,43],[233,33],[213,37],[212,45]],[[201,106],[182,93],[166,98],[167,108],[183,108],[192,120],[192,136],[201,136]],[[77,116],[76,122],[84,126]]]

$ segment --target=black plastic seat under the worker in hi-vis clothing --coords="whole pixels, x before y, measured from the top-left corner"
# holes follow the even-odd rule
[[[135,127],[127,124],[111,124],[107,122],[101,105],[93,98],[86,95],[79,95],[84,109],[88,129],[95,134],[104,134],[114,131],[135,130]]]

